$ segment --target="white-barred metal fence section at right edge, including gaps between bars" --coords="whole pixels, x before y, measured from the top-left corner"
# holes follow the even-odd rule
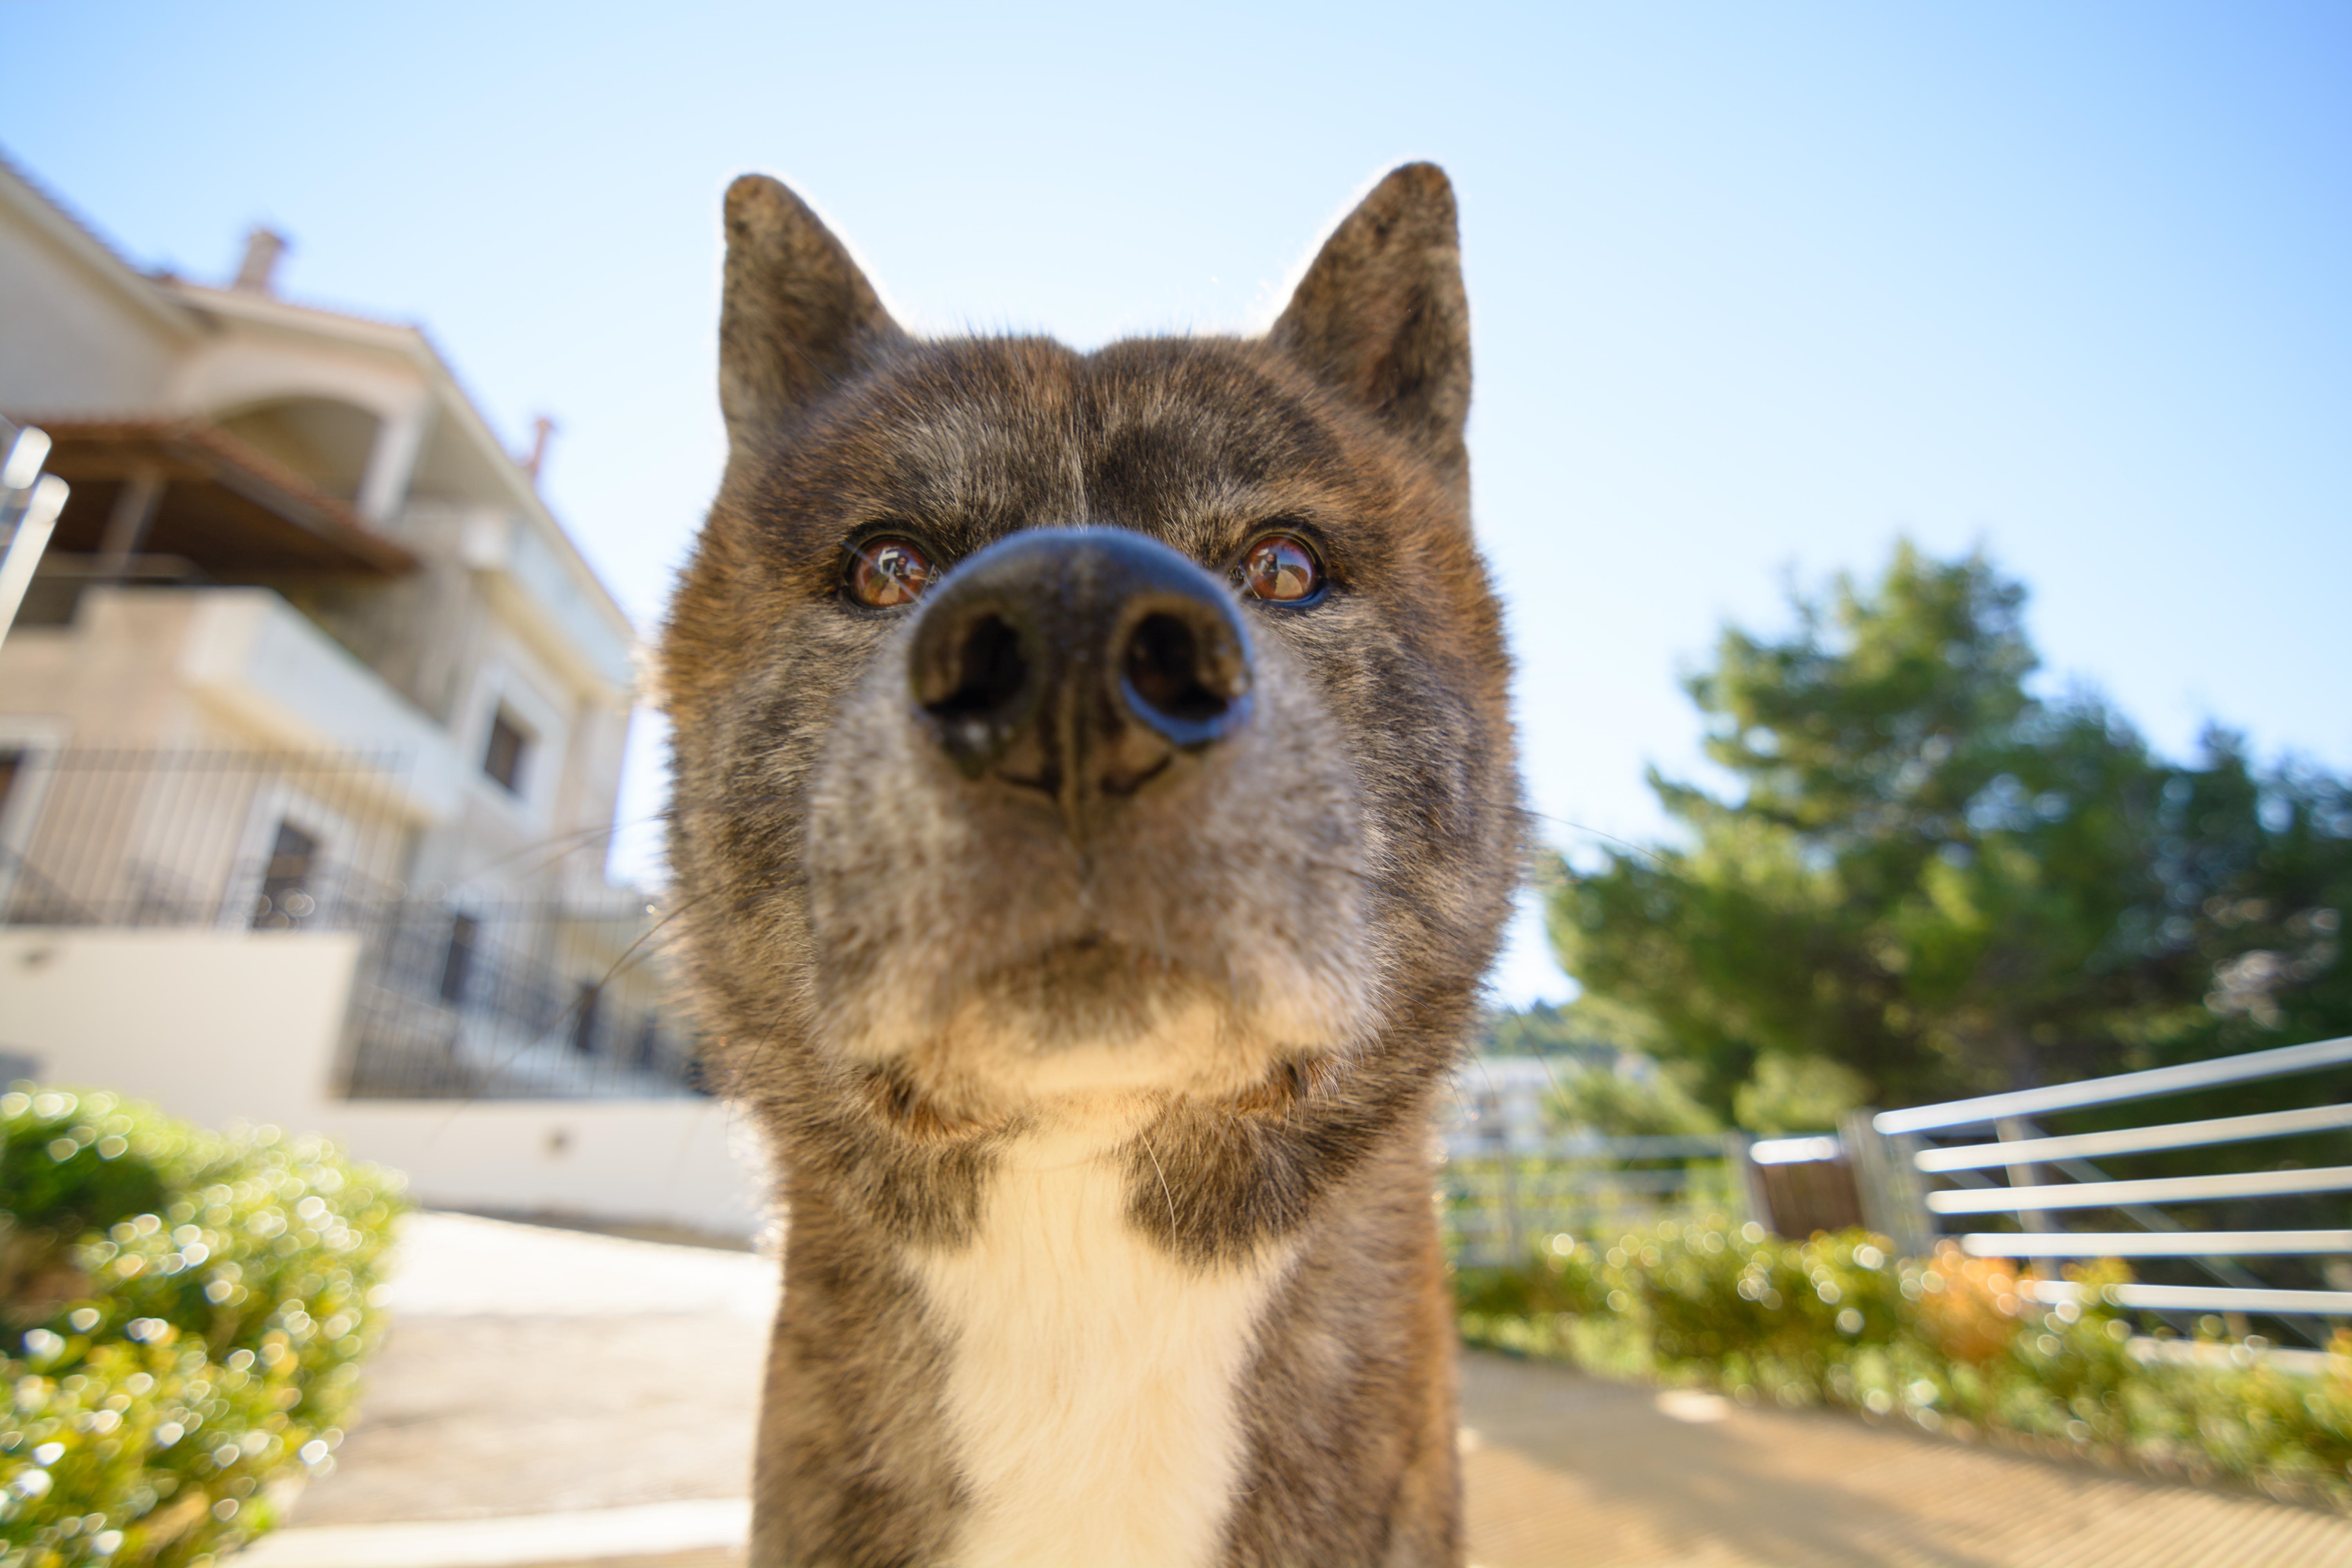
[[[2265,1319],[2321,1345],[2331,1321],[2352,1319],[2347,1067],[2352,1039],[2326,1039],[1882,1112],[1851,1121],[1846,1143],[1870,1222],[1912,1253],[1955,1234],[1973,1255],[2044,1274],[2124,1258],[2143,1279],[2105,1286],[2114,1307],[2220,1314],[2239,1338]],[[2218,1091],[2274,1105],[2187,1121],[2114,1110]],[[2086,1291],[2056,1276],[2025,1288],[2044,1302]]]

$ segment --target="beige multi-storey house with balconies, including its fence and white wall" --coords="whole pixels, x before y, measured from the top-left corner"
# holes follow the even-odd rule
[[[0,414],[73,487],[0,644],[0,1053],[437,1201],[748,1225],[602,870],[635,632],[539,454],[280,252],[143,273],[0,162]]]

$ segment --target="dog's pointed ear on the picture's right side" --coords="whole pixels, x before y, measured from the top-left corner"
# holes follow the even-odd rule
[[[1470,473],[1470,303],[1454,186],[1409,162],[1324,240],[1268,341],[1381,416],[1461,484]]]

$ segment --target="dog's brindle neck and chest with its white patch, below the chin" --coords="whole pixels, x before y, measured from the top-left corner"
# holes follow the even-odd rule
[[[790,1246],[762,1486],[816,1483],[769,1493],[753,1561],[1451,1561],[1428,1088],[1277,1079],[985,1128],[818,1072],[764,1103]]]

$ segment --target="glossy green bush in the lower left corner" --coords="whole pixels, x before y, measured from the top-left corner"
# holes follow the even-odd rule
[[[0,1568],[202,1568],[334,1465],[402,1178],[108,1093],[0,1135]]]

